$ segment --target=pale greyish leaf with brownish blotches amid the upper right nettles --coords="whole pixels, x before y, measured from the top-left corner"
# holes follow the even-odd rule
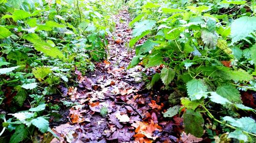
[[[218,34],[216,32],[212,33],[206,28],[203,28],[201,31],[201,38],[205,46],[209,48],[214,48],[217,45]]]

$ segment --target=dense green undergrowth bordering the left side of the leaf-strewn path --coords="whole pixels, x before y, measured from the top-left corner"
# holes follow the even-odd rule
[[[50,131],[49,115],[42,115],[54,108],[45,97],[61,94],[59,85],[75,84],[75,67],[86,73],[94,70],[92,61],[105,58],[106,36],[115,28],[109,12],[121,3],[0,1],[0,104],[13,117],[4,123],[15,130],[11,142],[28,139],[34,127]]]

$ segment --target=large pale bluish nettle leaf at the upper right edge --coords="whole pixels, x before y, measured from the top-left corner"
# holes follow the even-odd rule
[[[241,41],[256,31],[256,17],[243,16],[231,23],[232,43]]]

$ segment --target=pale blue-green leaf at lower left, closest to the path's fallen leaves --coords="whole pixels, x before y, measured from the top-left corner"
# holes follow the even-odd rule
[[[48,131],[49,122],[45,118],[37,117],[36,119],[33,119],[31,123],[32,125],[36,126],[42,133],[46,133]]]

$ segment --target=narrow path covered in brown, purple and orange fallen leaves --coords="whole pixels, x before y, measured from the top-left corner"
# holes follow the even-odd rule
[[[127,9],[113,18],[116,32],[109,36],[108,59],[96,63],[95,72],[88,76],[76,70],[79,86],[62,91],[71,97],[69,101],[62,100],[74,106],[63,113],[60,121],[64,124],[52,123],[60,142],[190,142],[196,139],[189,141],[186,134],[180,136],[182,118],[176,116],[171,121],[162,117],[161,113],[168,108],[167,93],[145,90],[142,71],[150,75],[158,72],[157,69],[145,71],[142,66],[136,66],[126,70],[135,52],[126,46],[132,38],[128,26],[131,18]],[[59,140],[54,138],[51,142]]]

